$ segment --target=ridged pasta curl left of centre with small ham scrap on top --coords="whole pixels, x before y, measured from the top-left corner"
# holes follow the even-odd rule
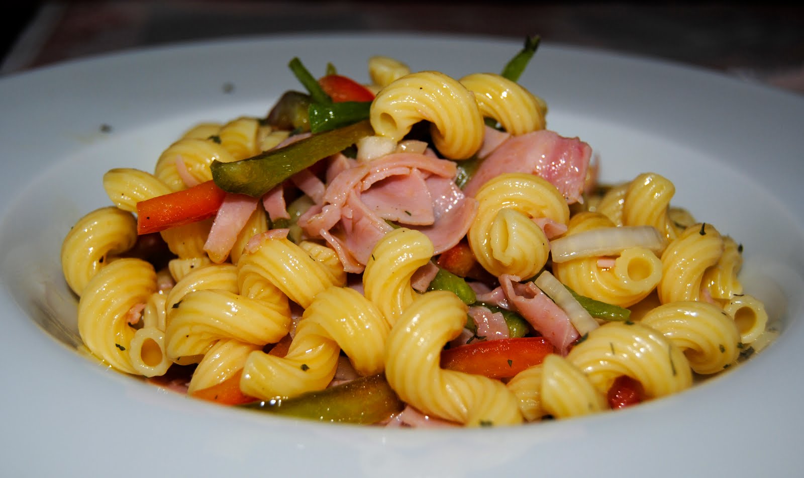
[[[337,285],[326,266],[285,237],[263,237],[259,247],[240,257],[238,267],[265,278],[304,308],[319,292]]]

